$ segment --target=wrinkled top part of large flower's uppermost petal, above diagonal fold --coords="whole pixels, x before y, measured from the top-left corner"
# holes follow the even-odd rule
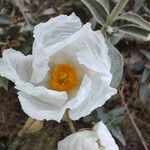
[[[44,47],[60,42],[78,31],[82,23],[74,13],[70,16],[59,15],[51,18],[45,23],[34,27],[35,42],[41,43]]]

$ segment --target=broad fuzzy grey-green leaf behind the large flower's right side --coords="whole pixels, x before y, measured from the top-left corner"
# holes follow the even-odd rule
[[[111,87],[116,88],[118,87],[122,78],[124,61],[120,52],[109,41],[107,42],[107,44],[109,48],[109,56],[111,58]]]

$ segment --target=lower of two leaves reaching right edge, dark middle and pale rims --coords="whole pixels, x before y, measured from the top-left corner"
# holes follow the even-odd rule
[[[125,38],[135,38],[142,41],[150,41],[150,32],[142,27],[128,24],[114,28],[116,31],[124,34]]]

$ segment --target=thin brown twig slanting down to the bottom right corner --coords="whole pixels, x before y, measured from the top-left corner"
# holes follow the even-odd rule
[[[146,145],[146,142],[145,142],[145,140],[144,140],[144,137],[142,136],[142,134],[141,134],[141,132],[140,132],[140,130],[139,130],[137,124],[135,123],[135,120],[134,120],[132,114],[130,113],[130,110],[129,110],[129,108],[128,108],[126,102],[125,102],[123,90],[124,90],[124,88],[122,88],[122,89],[120,90],[120,92],[119,92],[119,93],[120,93],[120,96],[121,96],[122,103],[123,103],[123,105],[124,105],[124,107],[125,107],[125,109],[126,109],[126,111],[127,111],[127,114],[128,114],[128,116],[129,116],[129,119],[131,120],[131,123],[132,123],[132,125],[133,125],[133,127],[134,127],[134,129],[135,129],[135,131],[136,131],[136,133],[137,133],[137,135],[139,136],[139,138],[140,138],[140,140],[141,140],[141,142],[142,142],[142,145],[143,145],[144,149],[145,149],[145,150],[148,150],[148,147],[147,147],[147,145]]]

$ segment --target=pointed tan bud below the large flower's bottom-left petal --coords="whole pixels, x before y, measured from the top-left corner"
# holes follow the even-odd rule
[[[27,133],[35,133],[43,127],[43,121],[28,118],[23,129],[19,131],[18,136],[23,136]]]

